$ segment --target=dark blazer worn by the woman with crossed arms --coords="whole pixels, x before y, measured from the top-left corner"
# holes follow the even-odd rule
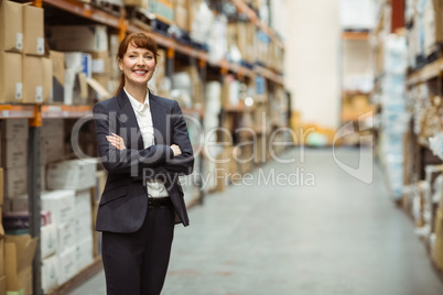
[[[134,232],[143,223],[148,209],[145,178],[160,178],[175,209],[175,221],[188,226],[179,175],[191,174],[193,150],[182,110],[175,100],[150,94],[149,106],[154,127],[155,144],[143,149],[136,113],[125,90],[94,106],[97,148],[108,178],[101,195],[96,230]],[[109,144],[106,135],[117,133],[126,150]],[[182,154],[173,156],[171,144]]]

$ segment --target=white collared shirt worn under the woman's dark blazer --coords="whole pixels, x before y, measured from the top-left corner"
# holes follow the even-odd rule
[[[128,94],[125,88],[123,90],[129,98],[129,102],[131,102],[133,112],[136,113],[140,133],[143,139],[143,149],[147,149],[154,144],[154,125],[152,123],[152,114],[149,107],[149,89],[143,103]],[[147,188],[149,197],[160,198],[169,196],[168,190],[161,181],[147,181]]]

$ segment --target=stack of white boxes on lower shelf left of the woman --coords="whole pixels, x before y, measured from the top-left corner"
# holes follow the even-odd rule
[[[42,208],[51,211],[55,227],[42,228],[45,291],[66,283],[94,261],[91,188],[96,186],[96,165],[82,160],[48,164],[47,188],[53,190],[42,195]]]

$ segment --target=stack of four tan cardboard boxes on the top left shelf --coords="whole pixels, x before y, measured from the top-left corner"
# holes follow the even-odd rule
[[[43,9],[2,1],[0,15],[0,102],[47,102],[52,66],[43,56]]]

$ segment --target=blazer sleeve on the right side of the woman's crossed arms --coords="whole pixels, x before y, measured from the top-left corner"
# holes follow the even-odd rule
[[[176,101],[174,101],[172,114],[171,144],[179,145],[182,154],[166,160],[166,162],[160,166],[160,172],[163,168],[169,174],[188,175],[194,170],[194,152],[187,132],[186,121],[184,120],[182,109]]]

